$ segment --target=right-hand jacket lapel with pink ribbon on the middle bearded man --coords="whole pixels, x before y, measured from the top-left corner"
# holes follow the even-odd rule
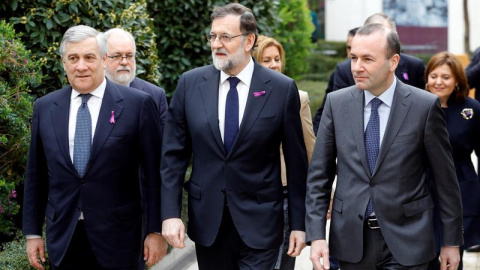
[[[248,134],[252,128],[255,120],[257,120],[260,111],[267,102],[273,89],[267,84],[270,81],[270,76],[266,74],[265,70],[257,63],[254,62],[254,70],[250,89],[248,90],[247,104],[245,106],[245,112],[243,114],[242,123],[238,130],[238,135],[233,142],[232,150],[230,154],[238,147],[239,142]],[[255,97],[254,92],[265,91],[264,95]]]

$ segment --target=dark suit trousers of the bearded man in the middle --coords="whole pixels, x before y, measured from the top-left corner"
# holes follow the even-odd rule
[[[222,224],[213,245],[196,244],[199,270],[272,270],[278,248],[254,249],[245,244],[233,224],[228,206],[224,207]]]

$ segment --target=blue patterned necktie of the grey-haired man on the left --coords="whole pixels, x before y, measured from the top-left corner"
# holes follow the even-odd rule
[[[75,126],[75,138],[73,145],[73,166],[78,175],[83,177],[90,158],[90,146],[92,144],[92,118],[88,110],[88,99],[91,94],[81,94],[82,104],[78,107],[77,124]]]

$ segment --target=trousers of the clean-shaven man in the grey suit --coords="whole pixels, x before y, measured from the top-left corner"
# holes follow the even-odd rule
[[[380,228],[363,226],[363,257],[358,263],[340,261],[341,270],[426,270],[428,263],[415,266],[401,265],[392,256]]]

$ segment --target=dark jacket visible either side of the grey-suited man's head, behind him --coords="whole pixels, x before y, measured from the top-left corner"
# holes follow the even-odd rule
[[[408,54],[400,54],[400,62],[395,76],[411,86],[425,89],[425,65],[422,60]],[[351,60],[347,59],[337,65],[332,91],[355,85],[351,70]]]

